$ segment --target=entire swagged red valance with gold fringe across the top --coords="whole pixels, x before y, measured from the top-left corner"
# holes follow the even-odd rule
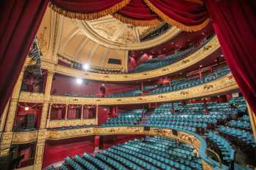
[[[155,25],[161,18],[184,31],[198,31],[209,22],[206,7],[200,0],[50,0],[50,7],[80,20],[113,14],[135,26]]]

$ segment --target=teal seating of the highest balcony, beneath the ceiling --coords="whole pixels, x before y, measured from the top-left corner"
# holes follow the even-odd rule
[[[181,61],[182,59],[186,58],[189,54],[195,53],[195,51],[199,50],[200,47],[203,47],[204,45],[206,45],[206,43],[209,42],[210,40],[211,38],[206,39],[203,41],[203,43],[201,43],[200,45],[197,45],[196,47],[190,47],[187,50],[177,51],[172,55],[166,56],[165,58],[153,58],[151,61],[147,61],[146,63],[141,63],[135,69],[130,70],[129,73],[146,72],[149,70],[159,69],[163,66],[167,66],[172,63],[176,63],[177,61]]]

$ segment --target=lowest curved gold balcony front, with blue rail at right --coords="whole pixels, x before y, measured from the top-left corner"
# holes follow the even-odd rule
[[[173,133],[173,130],[177,131]],[[24,139],[31,141],[31,133],[34,132],[20,132],[13,134],[12,142],[17,144],[24,142]],[[37,131],[36,131],[37,133]],[[47,130],[38,131],[39,139],[59,140],[74,138],[78,136],[91,136],[91,135],[115,135],[115,134],[143,134],[152,136],[164,136],[172,139],[178,139],[181,142],[191,144],[195,149],[199,150],[200,158],[202,158],[203,169],[227,169],[227,166],[219,164],[216,161],[208,158],[206,155],[207,144],[202,136],[190,131],[184,131],[180,129],[151,127],[147,131],[144,126],[118,126],[118,127],[89,127],[89,128],[77,128],[67,130]],[[20,138],[23,136],[23,139]]]

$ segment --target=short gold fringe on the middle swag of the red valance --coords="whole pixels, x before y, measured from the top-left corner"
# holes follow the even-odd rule
[[[113,18],[120,20],[123,23],[132,24],[133,26],[156,26],[161,23],[160,20],[134,20],[131,18],[126,18],[123,15],[117,13],[113,14]]]

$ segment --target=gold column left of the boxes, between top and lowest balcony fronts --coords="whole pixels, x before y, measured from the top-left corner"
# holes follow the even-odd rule
[[[42,115],[41,115],[41,122],[39,127],[40,129],[43,129],[46,126],[48,107],[50,103],[50,89],[51,89],[51,84],[53,82],[53,74],[54,72],[52,70],[48,70],[47,80],[45,85],[44,103],[42,104]]]

